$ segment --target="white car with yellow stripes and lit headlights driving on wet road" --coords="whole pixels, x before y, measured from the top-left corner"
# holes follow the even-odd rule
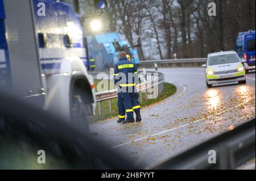
[[[205,68],[207,87],[217,83],[246,83],[245,68],[235,51],[209,53]]]

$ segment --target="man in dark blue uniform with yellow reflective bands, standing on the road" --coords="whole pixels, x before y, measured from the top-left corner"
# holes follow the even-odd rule
[[[135,64],[127,59],[126,52],[120,52],[119,62],[114,67],[114,83],[118,87],[118,123],[134,123],[133,111],[136,113],[136,121],[142,120],[136,89],[137,75]]]

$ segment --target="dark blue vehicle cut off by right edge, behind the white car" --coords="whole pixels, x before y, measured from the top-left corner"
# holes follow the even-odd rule
[[[243,61],[246,73],[255,69],[255,31],[238,33],[236,51]]]

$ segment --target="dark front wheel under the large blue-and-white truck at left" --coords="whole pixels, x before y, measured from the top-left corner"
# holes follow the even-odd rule
[[[75,126],[86,133],[89,133],[89,122],[88,122],[88,110],[89,105],[86,105],[82,99],[81,95],[73,95],[73,105],[71,108],[72,121],[75,123]]]

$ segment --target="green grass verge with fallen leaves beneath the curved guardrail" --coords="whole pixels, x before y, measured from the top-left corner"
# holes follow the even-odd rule
[[[96,87],[97,87],[97,85],[96,85]],[[168,98],[169,96],[174,95],[176,91],[177,91],[177,89],[174,85],[165,82],[162,94],[160,94],[158,96],[158,98],[156,98],[156,99],[148,99],[146,102],[145,93],[142,93],[141,106],[143,108],[146,106],[150,106],[151,104],[160,102],[161,100],[164,100],[164,99]],[[141,98],[139,98],[139,100],[141,100]],[[94,121],[100,121],[100,120],[118,116],[117,98],[112,99],[112,113],[110,113],[109,110],[110,110],[109,100],[102,101],[101,102],[102,116],[100,116],[99,110],[98,110],[98,104],[97,104],[96,115],[89,118],[90,123],[93,123]]]

